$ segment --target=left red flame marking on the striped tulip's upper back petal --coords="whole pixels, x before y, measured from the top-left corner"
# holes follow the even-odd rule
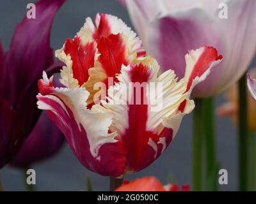
[[[91,42],[82,45],[80,38],[76,36],[74,40],[68,39],[65,42],[63,50],[66,55],[71,56],[74,78],[79,85],[83,85],[89,78],[88,69],[94,66],[95,44]]]

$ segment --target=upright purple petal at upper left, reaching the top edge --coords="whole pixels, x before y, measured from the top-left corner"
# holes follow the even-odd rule
[[[12,85],[11,103],[20,92],[49,67],[53,59],[50,47],[51,27],[54,15],[64,0],[41,0],[36,3],[36,18],[24,17],[17,25],[6,56],[6,66]]]

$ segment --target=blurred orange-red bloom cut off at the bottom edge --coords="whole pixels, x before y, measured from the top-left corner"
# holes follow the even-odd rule
[[[115,191],[189,191],[189,189],[189,185],[182,186],[180,190],[177,184],[163,186],[155,177],[142,177],[132,182],[124,182]]]

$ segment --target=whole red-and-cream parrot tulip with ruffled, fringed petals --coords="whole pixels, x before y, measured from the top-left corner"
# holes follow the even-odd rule
[[[143,170],[163,153],[195,106],[193,87],[222,59],[215,48],[202,47],[186,55],[184,78],[178,81],[171,69],[158,75],[157,61],[145,55],[136,34],[106,14],[97,14],[95,24],[86,18],[56,56],[66,64],[60,80],[65,88],[54,87],[44,73],[38,108],[47,110],[86,168],[111,177]],[[106,96],[99,84],[106,85]],[[146,87],[127,93],[131,84]]]

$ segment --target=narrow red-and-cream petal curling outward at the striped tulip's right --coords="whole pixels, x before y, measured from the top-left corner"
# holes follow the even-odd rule
[[[195,108],[194,101],[189,99],[193,88],[205,80],[210,74],[211,69],[219,64],[223,57],[218,55],[217,50],[213,47],[201,47],[197,50],[190,50],[185,59],[185,77],[179,82],[186,84],[185,99],[179,104],[176,114],[166,117],[163,121],[165,128],[173,129],[173,136],[176,135],[184,115],[190,113]]]

